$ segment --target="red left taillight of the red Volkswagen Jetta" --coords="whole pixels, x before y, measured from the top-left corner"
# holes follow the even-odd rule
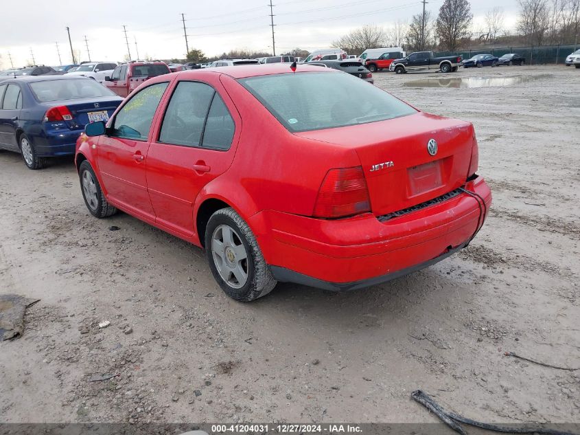
[[[371,200],[361,166],[327,172],[318,190],[314,216],[338,218],[369,211]]]

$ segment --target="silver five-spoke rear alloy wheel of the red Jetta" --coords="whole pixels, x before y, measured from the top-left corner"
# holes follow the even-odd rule
[[[211,254],[222,280],[233,289],[244,287],[248,280],[248,253],[232,227],[216,227],[211,236]]]

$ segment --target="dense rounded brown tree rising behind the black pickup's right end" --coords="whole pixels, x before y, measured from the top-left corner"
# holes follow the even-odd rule
[[[436,34],[445,49],[454,52],[459,40],[469,36],[469,25],[473,19],[467,0],[445,0],[439,9]]]

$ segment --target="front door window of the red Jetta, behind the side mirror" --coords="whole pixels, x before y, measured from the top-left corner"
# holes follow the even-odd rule
[[[153,116],[168,83],[156,83],[141,89],[115,116],[111,136],[147,140]]]

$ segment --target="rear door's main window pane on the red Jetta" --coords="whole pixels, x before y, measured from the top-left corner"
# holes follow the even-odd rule
[[[180,82],[167,105],[159,142],[199,146],[213,93],[204,83]]]

